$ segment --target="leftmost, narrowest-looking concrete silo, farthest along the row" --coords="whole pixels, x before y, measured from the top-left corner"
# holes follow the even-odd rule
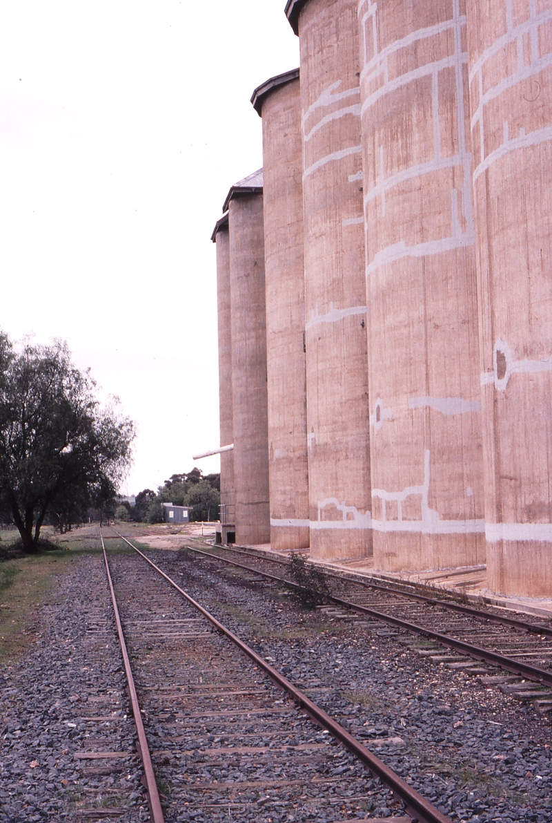
[[[232,332],[230,307],[230,236],[228,222],[217,230],[217,301],[219,309],[219,409],[220,445],[234,441],[232,423]],[[220,455],[220,500],[227,506],[228,518],[235,514],[234,453]]]

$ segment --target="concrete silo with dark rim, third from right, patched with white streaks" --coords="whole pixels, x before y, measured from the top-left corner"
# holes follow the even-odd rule
[[[371,551],[357,0],[289,0],[299,35],[311,556]]]

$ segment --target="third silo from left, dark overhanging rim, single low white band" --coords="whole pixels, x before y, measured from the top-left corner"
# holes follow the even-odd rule
[[[292,550],[310,537],[299,70],[271,77],[251,103],[263,120],[270,543]]]

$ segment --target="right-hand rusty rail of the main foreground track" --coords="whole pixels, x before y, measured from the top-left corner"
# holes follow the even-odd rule
[[[200,611],[209,623],[214,625],[216,630],[221,632],[221,634],[225,637],[228,637],[229,640],[232,640],[232,643],[235,644],[238,649],[241,649],[242,652],[246,653],[247,657],[249,657],[256,666],[266,672],[266,674],[268,674],[270,679],[274,681],[277,686],[280,686],[280,688],[287,691],[288,695],[292,696],[293,700],[297,702],[299,707],[303,709],[303,711],[305,711],[306,714],[308,714],[309,717],[315,721],[315,723],[328,731],[336,740],[343,743],[343,746],[351,751],[353,755],[357,756],[359,760],[361,760],[362,763],[368,767],[372,774],[379,777],[382,783],[385,783],[385,785],[393,791],[396,797],[400,797],[405,804],[407,814],[412,817],[412,823],[452,823],[450,818],[440,812],[439,809],[433,805],[433,803],[429,802],[422,797],[420,793],[416,792],[416,789],[409,786],[408,783],[398,776],[398,774],[395,774],[393,770],[389,769],[389,766],[386,766],[379,757],[372,754],[366,746],[364,746],[355,737],[352,737],[352,735],[349,734],[343,726],[334,720],[334,718],[331,718],[329,714],[326,714],[324,709],[320,709],[320,706],[313,703],[312,700],[304,695],[301,690],[297,689],[296,686],[293,686],[293,684],[288,681],[287,677],[283,677],[283,675],[272,667],[270,663],[268,663],[264,658],[261,658],[260,655],[251,649],[250,646],[244,643],[243,640],[237,637],[237,635],[234,635],[232,631],[220,623],[217,618],[210,614],[209,611],[200,605],[200,603],[180,588],[180,586],[176,584],[174,580],[168,576],[168,574],[165,574],[163,570],[159,569],[159,566],[155,565],[149,557],[140,551],[140,549],[137,549],[136,546],[133,546],[132,543],[127,540],[127,537],[124,537],[114,528],[113,531],[118,535],[118,537],[131,546],[131,548],[134,549],[134,551],[136,551],[136,553],[140,555],[146,563],[149,563],[152,569],[167,580],[168,584],[173,586],[173,588],[175,588],[177,592],[191,604],[191,606],[195,607],[197,611]]]

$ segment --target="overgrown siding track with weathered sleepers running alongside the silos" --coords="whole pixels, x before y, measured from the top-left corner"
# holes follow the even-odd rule
[[[217,547],[214,553],[189,544],[186,547],[278,584],[293,583],[285,575],[287,560],[244,549],[221,551]],[[230,560],[228,555],[248,562]],[[284,574],[275,574],[276,568],[283,568]],[[350,619],[356,612],[366,616],[374,629],[390,626],[395,633],[403,633],[403,644],[409,643],[407,635],[425,638],[426,648],[416,648],[421,656],[472,672],[485,685],[496,686],[519,700],[531,700],[540,714],[552,711],[552,625],[501,615],[499,609],[467,607],[453,600],[436,600],[338,574],[325,576],[331,596],[326,597],[329,603],[322,609],[334,619]]]

